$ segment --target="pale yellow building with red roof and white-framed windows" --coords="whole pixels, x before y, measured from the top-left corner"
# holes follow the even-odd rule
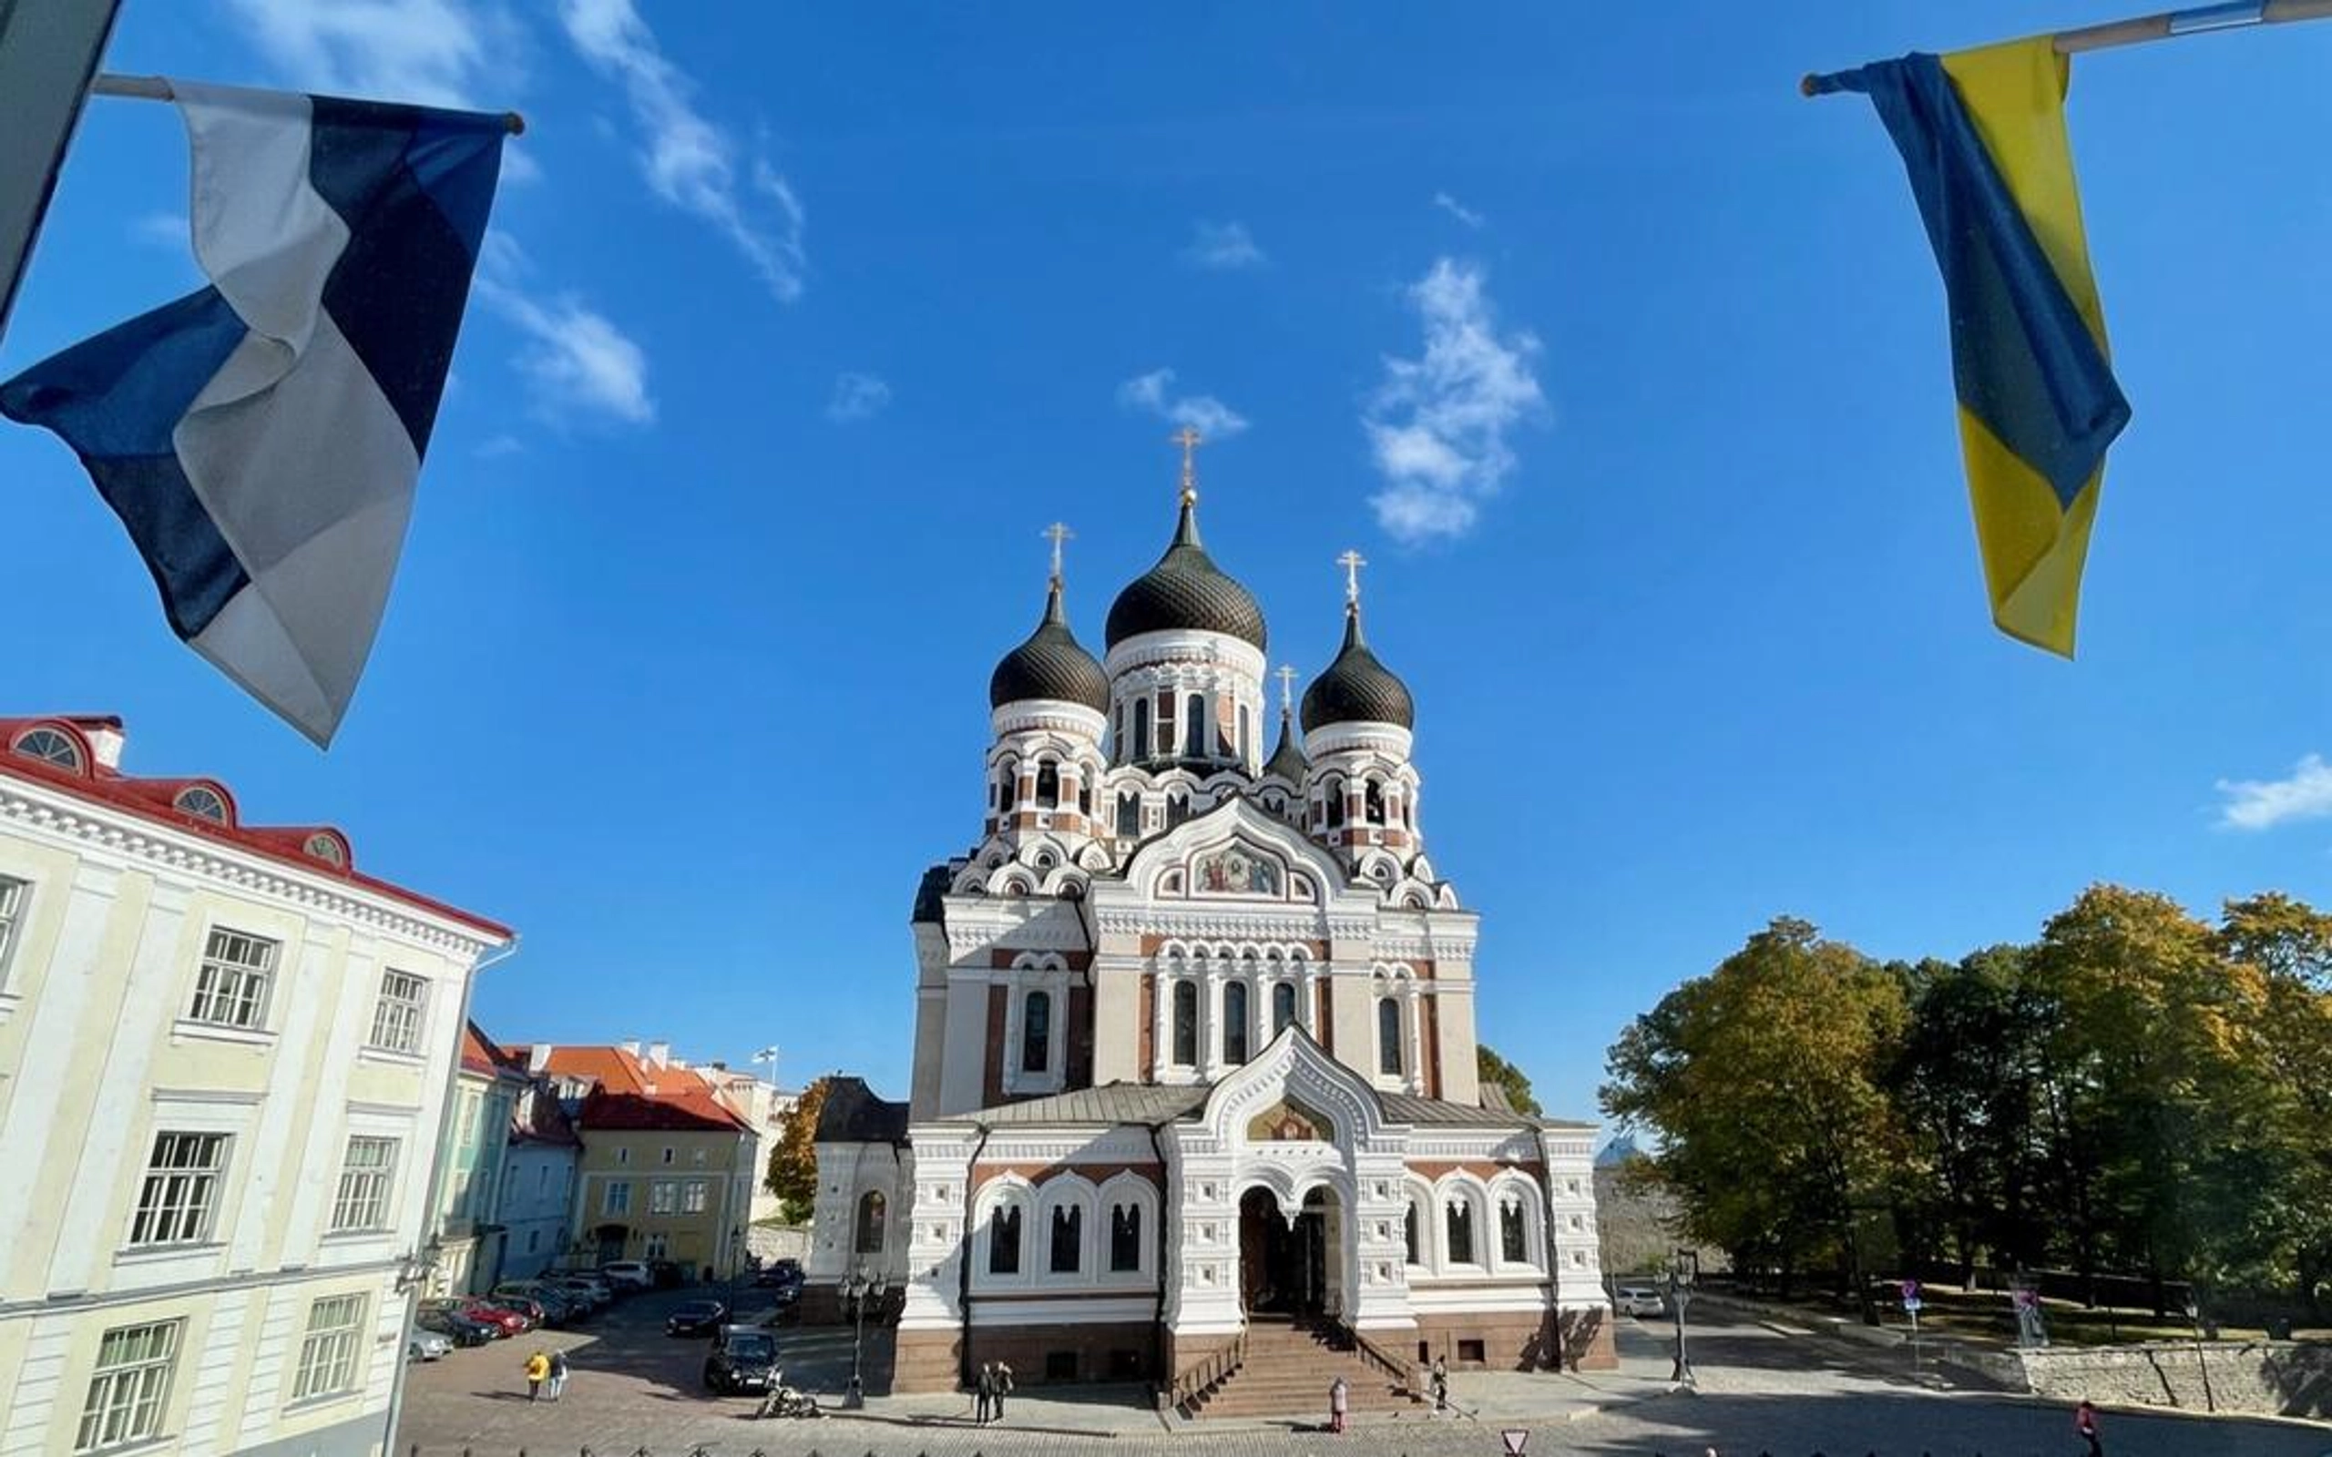
[[[0,720],[0,1457],[378,1452],[492,921]]]

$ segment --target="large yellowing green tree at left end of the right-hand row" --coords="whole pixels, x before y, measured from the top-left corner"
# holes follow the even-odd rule
[[[1863,1215],[1903,1140],[1882,1079],[1908,1021],[1903,977],[1777,918],[1611,1047],[1604,1110],[1660,1133],[1686,1233],[1735,1268],[1835,1268],[1866,1322]]]

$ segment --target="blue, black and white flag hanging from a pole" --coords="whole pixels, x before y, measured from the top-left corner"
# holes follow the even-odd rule
[[[196,653],[319,746],[373,648],[504,117],[173,82],[210,277],[0,385]]]

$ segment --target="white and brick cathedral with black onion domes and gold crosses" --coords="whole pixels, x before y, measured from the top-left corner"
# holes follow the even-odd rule
[[[1476,1077],[1481,918],[1425,853],[1416,706],[1362,634],[1264,753],[1264,613],[1182,511],[989,678],[986,809],[914,898],[914,1084],[837,1077],[809,1298],[884,1280],[893,1389],[986,1361],[1185,1408],[1273,1364],[1609,1366],[1590,1124]],[[1301,732],[1299,732],[1301,727]],[[1313,1403],[1311,1394],[1306,1403]]]

